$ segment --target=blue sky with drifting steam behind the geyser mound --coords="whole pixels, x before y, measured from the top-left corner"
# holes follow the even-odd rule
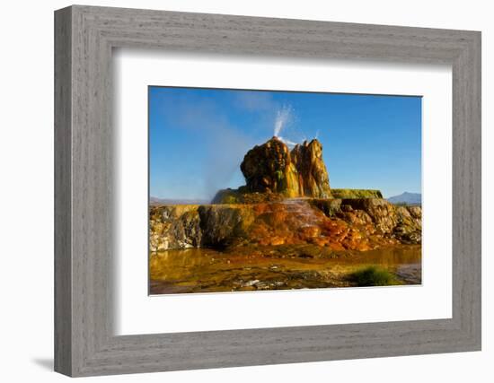
[[[279,136],[317,137],[331,187],[421,190],[421,98],[149,87],[150,195],[208,199],[244,185],[240,163]]]

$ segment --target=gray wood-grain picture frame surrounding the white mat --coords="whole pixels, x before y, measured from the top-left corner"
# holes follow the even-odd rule
[[[453,317],[113,335],[112,48],[453,68]],[[143,126],[146,128],[146,126]],[[55,370],[90,376],[481,350],[481,33],[71,6],[55,13]]]

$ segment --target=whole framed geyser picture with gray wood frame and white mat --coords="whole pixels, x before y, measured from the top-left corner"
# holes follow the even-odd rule
[[[75,5],[55,37],[57,371],[481,349],[480,32]]]

